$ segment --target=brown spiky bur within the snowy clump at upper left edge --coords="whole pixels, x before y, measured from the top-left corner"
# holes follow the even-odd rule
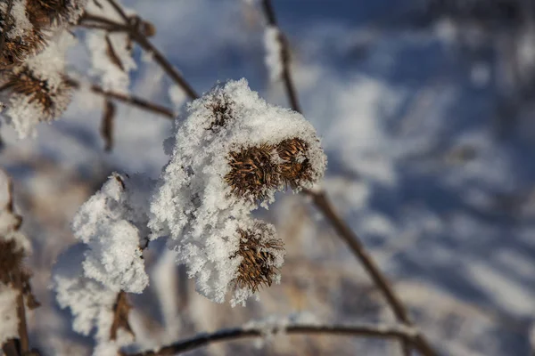
[[[29,104],[35,104],[42,109],[40,120],[52,120],[59,117],[70,102],[72,87],[62,78],[53,87],[48,80],[37,77],[31,69],[23,66],[7,71],[2,77],[2,92],[11,96],[28,98]]]

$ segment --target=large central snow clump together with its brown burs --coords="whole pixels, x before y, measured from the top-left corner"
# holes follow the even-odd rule
[[[268,206],[278,190],[311,187],[325,154],[304,117],[269,105],[244,79],[218,85],[187,110],[165,144],[171,158],[151,202],[152,238],[174,240],[202,295],[222,303],[234,289],[231,302],[242,303],[277,279],[283,255],[274,229],[253,222],[251,210]],[[255,280],[240,279],[251,271],[243,261],[259,267]]]

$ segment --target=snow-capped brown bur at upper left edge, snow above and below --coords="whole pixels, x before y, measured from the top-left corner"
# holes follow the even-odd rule
[[[39,122],[60,117],[70,104],[65,53],[72,44],[73,36],[63,30],[42,53],[0,74],[0,97],[7,105],[4,118],[21,138],[35,134]]]

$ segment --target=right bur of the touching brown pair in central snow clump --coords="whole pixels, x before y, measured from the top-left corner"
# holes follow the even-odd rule
[[[309,158],[307,158],[307,142],[293,138],[276,145],[276,152],[281,158],[279,165],[281,180],[286,186],[295,189],[300,183],[309,182],[312,178]]]

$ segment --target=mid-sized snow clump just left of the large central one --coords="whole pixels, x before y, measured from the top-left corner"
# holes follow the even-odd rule
[[[112,174],[103,188],[80,207],[72,230],[88,249],[84,275],[116,293],[141,293],[148,285],[142,247],[148,234],[146,187],[140,176]]]

